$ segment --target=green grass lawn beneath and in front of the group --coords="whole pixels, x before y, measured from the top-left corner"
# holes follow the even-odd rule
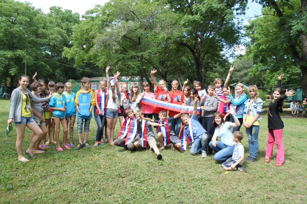
[[[10,101],[0,100],[0,203],[306,203],[306,118],[285,117],[285,164],[264,162],[267,117],[263,112],[258,161],[244,162],[248,173],[225,174],[212,155],[202,159],[170,147],[158,161],[150,150],[123,151],[105,143],[91,149],[46,153],[30,162],[17,161],[15,130],[5,136]],[[282,115],[290,115],[284,112]],[[13,125],[14,126],[14,125]],[[15,126],[14,126],[15,127]],[[77,144],[75,125],[74,144]],[[91,120],[88,142],[95,142]],[[248,140],[242,127],[245,157]],[[119,133],[116,127],[115,138]],[[61,137],[61,135],[60,135]],[[29,146],[26,129],[23,150]],[[25,155],[26,156],[26,155]]]

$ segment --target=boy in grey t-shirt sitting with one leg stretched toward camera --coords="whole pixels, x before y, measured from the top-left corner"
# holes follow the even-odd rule
[[[157,127],[157,126],[165,127],[165,125],[164,124],[158,124],[158,123],[152,123],[150,121],[144,120],[143,119],[143,117],[144,117],[143,112],[140,111],[140,110],[135,113],[135,116],[138,119],[139,123],[141,123],[142,138],[147,138],[147,141],[145,141],[144,139],[135,140],[134,146],[136,148],[138,148],[142,144],[142,147],[147,147],[147,142],[148,142],[148,144],[150,146],[150,149],[152,149],[154,151],[154,153],[156,153],[157,159],[161,160],[162,159],[162,155],[160,154],[160,151],[159,151],[159,149],[157,147],[157,142],[156,142],[156,139],[155,139],[155,134],[153,133],[153,128],[151,126],[154,126],[154,127]]]

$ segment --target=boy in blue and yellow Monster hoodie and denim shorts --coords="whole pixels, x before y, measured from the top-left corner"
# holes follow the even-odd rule
[[[94,93],[90,88],[91,80],[87,77],[81,79],[82,88],[77,92],[75,99],[75,106],[78,112],[78,137],[79,137],[79,145],[76,146],[76,150],[85,147],[91,147],[87,143],[87,135],[90,131],[90,122],[92,115],[92,110],[94,108],[95,97]],[[84,123],[84,141],[82,142],[82,127]]]

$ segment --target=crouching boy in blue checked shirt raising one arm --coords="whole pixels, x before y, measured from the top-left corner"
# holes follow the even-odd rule
[[[182,134],[185,138],[189,136],[194,141],[191,145],[190,153],[192,155],[201,153],[201,157],[205,158],[207,157],[206,152],[208,150],[208,139],[210,136],[198,121],[197,102],[198,98],[195,98],[193,115],[191,118],[185,113],[181,115],[181,120],[184,124],[181,131],[183,131]]]

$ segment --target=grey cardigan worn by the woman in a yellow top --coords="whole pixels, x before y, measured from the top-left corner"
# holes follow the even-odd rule
[[[48,97],[45,98],[37,98],[35,96],[33,96],[33,94],[28,90],[25,89],[28,93],[29,93],[29,97],[31,98],[31,102],[33,103],[42,103],[42,102],[46,102],[48,101]],[[22,91],[19,87],[17,87],[16,89],[13,90],[12,94],[11,94],[11,105],[10,105],[10,115],[9,115],[9,119],[12,118],[14,119],[13,121],[16,122],[20,122],[21,121],[21,107],[22,107]]]

